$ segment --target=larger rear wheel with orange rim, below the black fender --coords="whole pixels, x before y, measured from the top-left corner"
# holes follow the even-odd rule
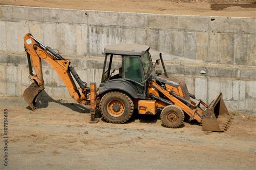
[[[129,96],[119,91],[111,91],[100,100],[99,108],[109,123],[125,123],[133,114],[134,105]]]

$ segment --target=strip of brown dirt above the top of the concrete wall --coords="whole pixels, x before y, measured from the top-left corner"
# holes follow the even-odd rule
[[[180,3],[160,0],[0,0],[0,4],[174,15],[256,17],[253,4]]]

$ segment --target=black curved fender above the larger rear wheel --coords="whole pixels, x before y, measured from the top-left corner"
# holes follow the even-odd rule
[[[138,90],[129,81],[125,80],[111,80],[99,84],[99,95],[105,94],[108,91],[124,91],[126,94],[130,95],[132,98],[138,98]]]

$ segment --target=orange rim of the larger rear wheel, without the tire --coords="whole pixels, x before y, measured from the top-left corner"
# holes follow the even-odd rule
[[[107,104],[107,112],[113,117],[119,117],[124,114],[124,104],[118,100],[112,100]]]

